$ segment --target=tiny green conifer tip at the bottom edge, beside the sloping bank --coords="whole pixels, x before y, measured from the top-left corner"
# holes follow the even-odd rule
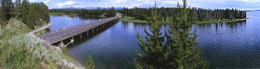
[[[89,52],[88,58],[86,59],[86,69],[94,69],[94,61],[91,53]]]

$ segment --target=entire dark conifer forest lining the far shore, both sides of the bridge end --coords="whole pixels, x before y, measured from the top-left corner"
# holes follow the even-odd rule
[[[163,20],[167,21],[172,14],[178,12],[179,8],[158,8],[158,12],[162,15]],[[244,10],[237,9],[203,9],[203,8],[189,8],[196,14],[198,21],[209,21],[210,19],[245,19],[246,12]],[[82,16],[106,16],[106,17],[115,17],[116,12],[120,12],[123,16],[134,17],[140,20],[148,20],[151,17],[154,8],[124,8],[122,10],[115,10],[115,8],[110,9],[100,9],[96,10],[86,10],[86,9],[52,9],[50,12],[62,12],[64,14],[80,14]]]

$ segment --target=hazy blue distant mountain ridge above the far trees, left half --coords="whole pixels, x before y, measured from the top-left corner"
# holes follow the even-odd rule
[[[102,7],[85,7],[85,8],[75,8],[75,7],[67,7],[67,8],[53,8],[53,9],[86,9],[86,10],[97,10],[100,9],[110,9],[110,8],[102,8]],[[115,7],[115,10],[122,10],[122,7]]]

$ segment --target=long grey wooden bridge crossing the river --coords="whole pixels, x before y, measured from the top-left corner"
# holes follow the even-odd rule
[[[98,28],[104,28],[105,26],[108,26],[111,21],[120,19],[121,17],[110,17],[110,18],[104,18],[97,21],[89,22],[89,23],[82,23],[77,26],[71,26],[69,28],[63,28],[61,30],[55,30],[52,32],[49,32],[48,34],[41,34],[37,37],[40,37],[41,39],[44,39],[48,41],[50,44],[62,42],[65,39],[69,39],[82,34],[83,32],[86,32],[89,34],[89,31],[94,32],[95,30],[98,30]]]

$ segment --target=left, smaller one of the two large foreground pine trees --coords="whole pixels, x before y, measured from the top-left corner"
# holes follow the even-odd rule
[[[153,16],[151,19],[149,19],[149,30],[151,32],[148,32],[149,30],[145,29],[145,39],[142,39],[140,34],[137,35],[139,46],[142,48],[142,51],[145,52],[145,55],[142,55],[137,50],[134,51],[138,57],[138,61],[145,63],[147,66],[142,67],[142,64],[138,63],[138,61],[135,59],[133,63],[135,64],[136,68],[164,68],[163,66],[166,66],[165,63],[167,63],[167,61],[164,60],[165,56],[163,53],[165,51],[165,46],[163,46],[165,37],[163,37],[162,33],[160,32],[162,25],[159,23],[159,21],[160,14],[158,13],[155,5]]]

